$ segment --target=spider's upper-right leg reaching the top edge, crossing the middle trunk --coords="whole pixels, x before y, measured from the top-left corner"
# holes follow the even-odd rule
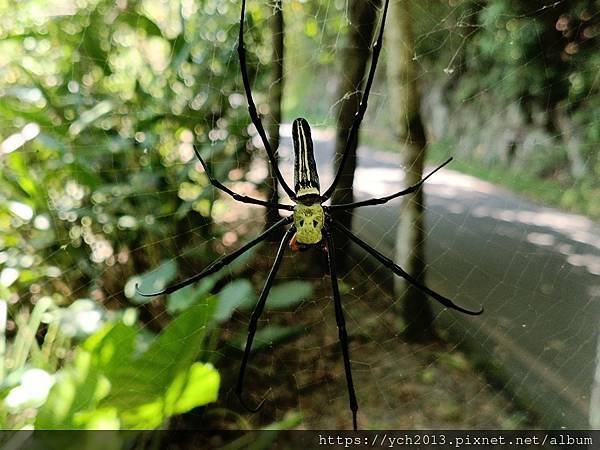
[[[367,78],[367,83],[365,84],[365,89],[362,98],[360,99],[360,104],[358,105],[358,111],[354,116],[354,121],[352,122],[350,133],[348,134],[348,141],[346,142],[346,148],[344,149],[342,160],[340,161],[340,165],[338,166],[338,170],[335,174],[335,178],[333,179],[333,183],[331,183],[331,186],[329,186],[329,188],[321,196],[321,202],[324,202],[333,195],[333,191],[335,191],[335,188],[340,181],[342,172],[344,170],[344,165],[346,164],[346,160],[348,159],[348,155],[350,154],[350,147],[352,147],[354,145],[355,140],[358,139],[358,129],[360,128],[360,124],[365,116],[365,112],[367,111],[367,103],[369,100],[369,94],[371,93],[371,85],[373,84],[373,79],[375,78],[375,69],[377,68],[377,61],[379,60],[379,54],[381,53],[381,45],[383,42],[383,30],[385,28],[385,19],[387,17],[387,10],[389,4],[390,0],[385,0],[385,5],[383,6],[383,14],[381,18],[381,26],[379,27],[379,35],[377,36],[377,41],[375,41],[375,44],[373,45],[373,56],[371,58],[369,76]]]

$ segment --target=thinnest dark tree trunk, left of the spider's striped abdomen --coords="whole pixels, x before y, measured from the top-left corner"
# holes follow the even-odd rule
[[[267,133],[269,135],[269,142],[275,152],[275,160],[279,160],[277,152],[279,149],[279,124],[281,123],[281,98],[283,96],[283,37],[284,37],[284,24],[283,24],[283,9],[281,7],[281,0],[275,0],[273,6],[274,11],[271,16],[271,36],[273,39],[273,51],[272,64],[273,69],[271,71],[271,87],[269,89],[269,108],[270,117],[267,124]],[[267,183],[267,198],[272,202],[279,202],[279,194],[277,192],[277,178],[273,172],[271,164],[268,163],[269,167],[269,182]],[[266,228],[280,219],[279,212],[276,209],[266,210]]]

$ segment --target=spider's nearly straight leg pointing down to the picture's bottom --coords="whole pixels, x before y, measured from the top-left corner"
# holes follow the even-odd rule
[[[344,358],[344,371],[346,372],[346,384],[348,385],[348,398],[350,400],[350,410],[352,411],[352,426],[357,430],[356,413],[358,411],[358,402],[356,401],[356,392],[352,382],[352,368],[350,367],[350,351],[348,350],[348,333],[346,332],[346,321],[344,311],[342,310],[342,299],[337,283],[337,270],[335,267],[335,246],[329,230],[323,229],[325,240],[327,242],[327,260],[329,262],[329,275],[331,277],[331,290],[333,291],[333,304],[335,307],[335,321],[338,327],[340,346],[342,347],[342,356]]]

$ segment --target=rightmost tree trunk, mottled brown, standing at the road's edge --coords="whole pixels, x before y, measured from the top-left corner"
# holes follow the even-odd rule
[[[398,0],[390,5],[391,24],[387,31],[387,74],[395,132],[402,147],[402,165],[406,169],[405,186],[417,183],[423,175],[425,130],[420,113],[417,67],[410,15],[410,1]],[[396,238],[396,262],[419,281],[425,281],[425,235],[423,190],[403,197]],[[427,296],[399,277],[395,292],[400,297],[404,333],[411,340],[428,340],[435,336],[433,314]]]

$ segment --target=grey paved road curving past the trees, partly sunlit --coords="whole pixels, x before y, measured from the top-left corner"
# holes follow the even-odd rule
[[[282,137],[291,179],[289,127]],[[332,136],[314,138],[328,186]],[[357,198],[395,192],[402,179],[394,155],[359,149]],[[439,310],[438,323],[487,356],[548,426],[600,428],[600,226],[452,170],[431,178],[425,194],[428,285],[485,306],[476,318]],[[397,202],[362,208],[354,230],[393,256],[397,211]]]

